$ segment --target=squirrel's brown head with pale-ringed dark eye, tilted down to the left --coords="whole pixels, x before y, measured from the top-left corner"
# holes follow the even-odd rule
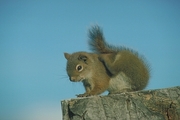
[[[64,53],[64,57],[67,59],[66,71],[72,82],[83,81],[91,77],[89,54],[86,52]]]

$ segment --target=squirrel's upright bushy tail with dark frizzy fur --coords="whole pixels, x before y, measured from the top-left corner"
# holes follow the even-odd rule
[[[96,53],[112,53],[116,52],[114,46],[106,43],[103,32],[98,25],[93,26],[89,30],[89,45],[92,51]]]

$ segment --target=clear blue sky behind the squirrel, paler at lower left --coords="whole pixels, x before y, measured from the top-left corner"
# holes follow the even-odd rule
[[[108,43],[146,57],[146,89],[180,85],[179,0],[1,0],[0,120],[62,119],[60,101],[84,92],[63,53],[90,52],[94,24]]]

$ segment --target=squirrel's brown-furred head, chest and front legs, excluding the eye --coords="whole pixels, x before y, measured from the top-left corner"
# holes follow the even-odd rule
[[[82,81],[86,89],[84,94],[78,95],[79,97],[97,95],[107,90],[110,78],[97,54],[77,52],[64,53],[64,56],[68,60],[66,70],[70,80],[72,82]],[[83,70],[80,72],[76,70],[77,65],[81,65]]]

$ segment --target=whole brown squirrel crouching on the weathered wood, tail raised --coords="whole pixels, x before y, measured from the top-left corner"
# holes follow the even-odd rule
[[[149,81],[149,65],[138,52],[108,44],[102,29],[89,29],[89,45],[92,53],[64,53],[66,71],[72,82],[83,82],[86,92],[77,97],[131,92],[144,89]]]

